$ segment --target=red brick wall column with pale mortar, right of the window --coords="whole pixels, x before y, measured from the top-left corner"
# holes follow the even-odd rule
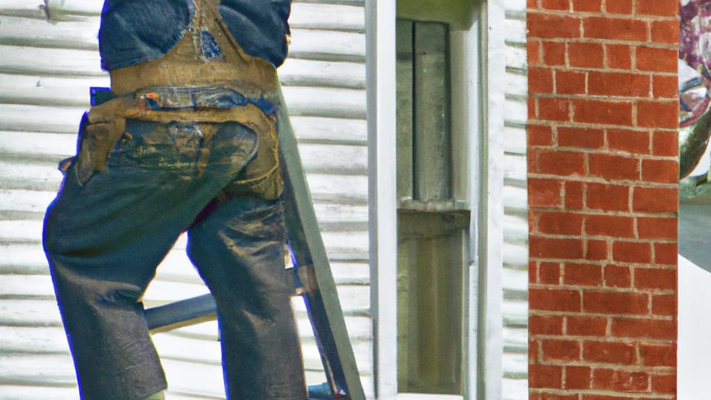
[[[677,0],[528,0],[531,400],[676,394]]]

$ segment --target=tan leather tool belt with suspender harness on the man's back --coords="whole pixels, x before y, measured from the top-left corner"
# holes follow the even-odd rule
[[[129,135],[127,119],[205,126],[237,122],[257,135],[257,153],[225,191],[266,199],[281,194],[276,69],[242,51],[213,0],[195,4],[191,29],[166,56],[110,71],[110,100],[93,106],[82,119],[77,156],[80,182],[106,168],[114,145]],[[207,141],[210,131],[203,130]]]

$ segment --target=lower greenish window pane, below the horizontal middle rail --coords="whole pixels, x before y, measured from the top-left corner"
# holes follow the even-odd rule
[[[398,391],[462,394],[467,213],[398,214]]]

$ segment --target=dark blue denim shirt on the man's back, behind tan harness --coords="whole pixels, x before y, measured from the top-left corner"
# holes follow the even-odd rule
[[[245,53],[282,65],[291,0],[221,0],[217,9]],[[161,58],[183,38],[194,14],[193,0],[105,0],[99,30],[102,68]]]

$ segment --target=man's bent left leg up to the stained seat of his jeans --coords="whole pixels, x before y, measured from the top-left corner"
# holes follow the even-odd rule
[[[234,179],[199,177],[194,128],[127,125],[106,170],[80,181],[74,164],[48,209],[44,245],[84,400],[166,387],[140,299],[181,231]]]

